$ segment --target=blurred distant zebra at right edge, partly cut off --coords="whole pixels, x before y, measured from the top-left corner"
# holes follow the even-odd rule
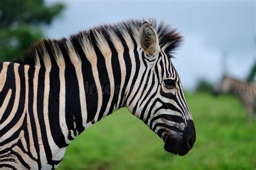
[[[224,75],[221,79],[220,87],[215,89],[216,95],[220,93],[232,93],[236,95],[244,104],[247,111],[248,120],[256,118],[256,84],[246,83],[233,77]]]

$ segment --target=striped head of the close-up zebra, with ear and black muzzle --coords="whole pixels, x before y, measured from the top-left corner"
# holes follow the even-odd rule
[[[185,155],[193,147],[196,131],[170,54],[182,37],[172,30],[173,39],[163,44],[160,30],[163,27],[156,31],[147,22],[140,27],[137,51],[143,64],[137,79],[141,83],[134,86],[136,93],[128,97],[126,107],[164,140],[167,152]]]

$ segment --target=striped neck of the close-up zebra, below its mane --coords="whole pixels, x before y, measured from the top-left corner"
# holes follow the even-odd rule
[[[33,86],[43,96],[39,102],[45,109],[39,112],[48,115],[49,126],[62,132],[66,144],[124,106],[128,66],[115,57],[107,62],[98,56],[97,65],[80,62],[31,68],[31,79],[36,79]]]

